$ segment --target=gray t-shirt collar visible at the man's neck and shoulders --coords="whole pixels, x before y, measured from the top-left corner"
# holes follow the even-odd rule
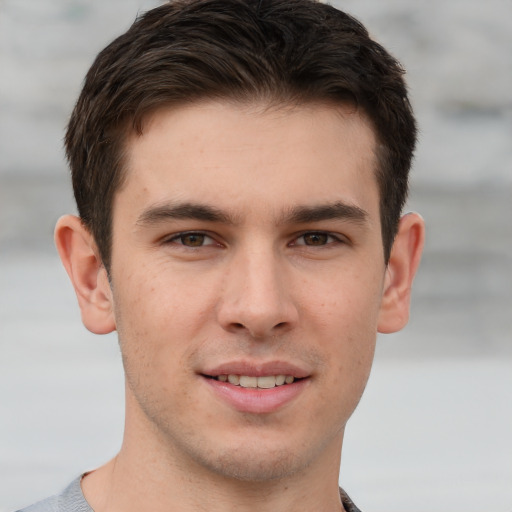
[[[81,476],[73,480],[62,494],[52,496],[17,512],[94,512],[85,501],[80,480],[82,480]],[[361,512],[342,489],[340,489],[340,496],[347,512]]]

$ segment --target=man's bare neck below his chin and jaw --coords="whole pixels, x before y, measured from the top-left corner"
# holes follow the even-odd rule
[[[310,512],[343,510],[338,492],[342,434],[307,467],[265,481],[227,477],[189,460],[151,428],[125,429],[110,462],[82,481],[95,512]],[[138,425],[140,427],[140,425]],[[143,432],[143,434],[141,434]]]

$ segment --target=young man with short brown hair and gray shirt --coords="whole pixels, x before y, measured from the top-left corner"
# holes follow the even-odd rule
[[[402,75],[310,0],[178,0],[99,54],[56,243],[85,326],[119,334],[125,435],[27,511],[358,510],[343,432],[423,244]]]

